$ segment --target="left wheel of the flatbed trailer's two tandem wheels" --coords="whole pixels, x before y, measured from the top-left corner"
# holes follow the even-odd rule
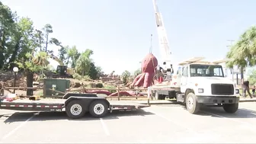
[[[66,106],[66,114],[72,119],[78,119],[85,116],[85,107],[83,107],[82,101],[70,101]]]

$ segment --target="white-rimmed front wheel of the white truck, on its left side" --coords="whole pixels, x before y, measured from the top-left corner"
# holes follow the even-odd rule
[[[187,94],[186,107],[190,114],[197,114],[197,112],[200,110],[200,104],[197,102],[197,96],[192,92]]]

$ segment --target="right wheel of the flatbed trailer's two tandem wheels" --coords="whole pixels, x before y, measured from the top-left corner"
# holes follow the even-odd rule
[[[93,101],[89,107],[89,113],[93,117],[104,117],[108,112],[108,105],[105,101]]]

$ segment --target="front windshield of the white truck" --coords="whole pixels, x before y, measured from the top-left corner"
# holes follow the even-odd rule
[[[190,76],[224,77],[222,66],[219,65],[190,65]]]

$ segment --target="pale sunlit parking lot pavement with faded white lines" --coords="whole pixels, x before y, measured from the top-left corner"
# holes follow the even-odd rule
[[[256,142],[256,103],[240,103],[236,114],[205,107],[189,114],[181,105],[116,112],[102,119],[69,120],[65,113],[0,110],[2,143],[181,143]]]

